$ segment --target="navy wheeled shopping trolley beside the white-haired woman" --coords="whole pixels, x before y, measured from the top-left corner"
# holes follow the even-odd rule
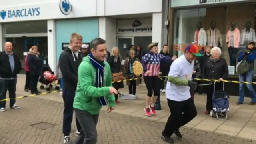
[[[210,111],[210,116],[216,117],[218,120],[227,120],[227,112],[229,112],[229,96],[224,92],[224,82],[222,90],[215,90],[215,84],[213,86],[213,94],[212,94],[212,110]]]

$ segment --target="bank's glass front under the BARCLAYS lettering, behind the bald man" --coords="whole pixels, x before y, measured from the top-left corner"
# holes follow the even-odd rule
[[[47,59],[47,20],[9,22],[2,24],[4,42],[12,42],[13,51],[20,58],[24,69],[24,52],[31,46],[38,46],[38,51],[43,59]],[[22,70],[21,73],[25,73]]]

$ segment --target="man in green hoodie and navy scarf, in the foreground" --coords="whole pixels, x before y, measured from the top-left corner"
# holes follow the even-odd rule
[[[105,62],[106,41],[102,38],[92,40],[91,53],[84,57],[78,68],[78,84],[74,98],[76,118],[82,130],[74,144],[96,144],[96,125],[100,109],[108,105],[108,112],[114,110],[117,90],[112,87],[110,66]]]

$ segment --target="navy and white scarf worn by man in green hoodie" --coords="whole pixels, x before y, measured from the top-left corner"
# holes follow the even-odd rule
[[[94,58],[92,53],[89,54],[90,62],[92,63],[92,66],[96,69],[96,79],[95,79],[95,87],[101,88],[104,87],[104,62],[99,62]],[[105,106],[108,104],[108,101],[104,96],[101,96],[98,98],[100,106]]]

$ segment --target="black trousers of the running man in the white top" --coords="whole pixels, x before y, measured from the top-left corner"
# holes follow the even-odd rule
[[[185,101],[167,100],[170,108],[170,116],[163,131],[164,136],[171,136],[175,130],[184,126],[196,117],[196,106],[192,98]],[[183,114],[182,114],[183,113]]]

